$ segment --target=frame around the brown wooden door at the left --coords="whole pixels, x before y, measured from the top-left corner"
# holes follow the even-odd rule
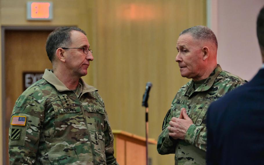
[[[7,155],[8,155],[8,150],[6,149],[6,123],[4,120],[4,117],[6,115],[5,113],[5,108],[6,108],[6,82],[5,82],[5,32],[6,30],[14,30],[14,31],[53,31],[55,28],[57,28],[59,26],[1,26],[1,79],[2,79],[2,113],[1,113],[1,118],[2,119],[2,137],[4,137],[3,141],[2,141],[2,164],[6,164],[7,160]],[[9,161],[8,161],[9,162]],[[1,162],[0,162],[1,164]]]

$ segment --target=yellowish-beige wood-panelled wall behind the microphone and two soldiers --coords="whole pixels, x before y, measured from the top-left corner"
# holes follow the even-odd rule
[[[158,138],[174,95],[188,81],[175,62],[178,34],[206,24],[205,0],[53,0],[52,21],[27,21],[26,0],[0,2],[1,26],[75,25],[87,32],[95,60],[84,79],[99,89],[112,129],[145,136],[141,101],[151,81],[149,137]],[[153,145],[149,156],[153,165],[174,164],[173,155],[158,155]]]

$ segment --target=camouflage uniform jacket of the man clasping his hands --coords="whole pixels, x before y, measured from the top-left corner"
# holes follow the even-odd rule
[[[158,153],[175,153],[175,164],[206,164],[206,112],[209,104],[244,83],[241,78],[222,71],[218,65],[196,90],[193,80],[181,87],[163,121],[162,132],[158,137]],[[172,117],[180,116],[183,107],[194,124],[187,130],[185,140],[174,140],[169,137],[167,127]]]

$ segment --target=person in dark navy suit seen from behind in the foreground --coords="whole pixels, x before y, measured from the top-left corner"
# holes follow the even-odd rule
[[[257,19],[264,63],[264,7]],[[264,64],[245,85],[207,111],[207,164],[264,164]]]

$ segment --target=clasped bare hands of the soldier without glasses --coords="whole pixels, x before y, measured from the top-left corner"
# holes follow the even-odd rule
[[[186,113],[185,108],[181,109],[179,118],[173,117],[169,122],[168,130],[169,136],[173,139],[182,139],[184,140],[185,135],[189,127],[193,124],[193,121]]]

